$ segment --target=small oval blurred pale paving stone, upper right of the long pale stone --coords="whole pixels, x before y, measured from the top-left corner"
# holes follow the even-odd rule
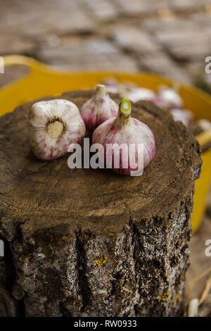
[[[136,51],[139,54],[158,51],[160,46],[148,33],[132,25],[119,25],[113,31],[114,41],[129,51]]]

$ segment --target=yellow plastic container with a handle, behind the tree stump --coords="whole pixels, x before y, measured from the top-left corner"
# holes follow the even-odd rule
[[[26,56],[5,56],[4,65],[26,65],[29,74],[18,81],[12,82],[0,89],[0,115],[14,110],[26,101],[55,96],[75,89],[93,88],[106,77],[115,77],[120,82],[130,81],[141,87],[156,90],[160,85],[172,86],[174,82],[164,77],[146,73],[113,73],[113,72],[80,72],[63,73],[54,68],[39,63]],[[204,92],[180,85],[179,94],[184,100],[185,108],[191,109],[195,118],[207,118],[211,121],[211,97]],[[211,131],[198,136],[200,144],[211,140]],[[191,217],[193,232],[196,231],[205,211],[207,192],[211,176],[211,149],[202,155],[203,167],[200,179],[196,180],[193,214]]]

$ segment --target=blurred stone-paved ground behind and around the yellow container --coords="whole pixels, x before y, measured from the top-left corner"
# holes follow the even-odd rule
[[[63,70],[158,73],[211,93],[211,0],[0,0],[0,56],[32,56]],[[25,75],[6,68],[0,86]],[[211,195],[191,239],[187,283],[211,266]],[[205,281],[191,297],[200,296]],[[210,281],[211,284],[211,281]],[[211,294],[202,316],[211,316]],[[210,314],[210,315],[209,315]]]

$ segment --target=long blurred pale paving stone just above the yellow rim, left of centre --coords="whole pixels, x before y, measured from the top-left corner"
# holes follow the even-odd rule
[[[69,70],[136,71],[139,68],[133,58],[122,54],[111,42],[103,39],[79,39],[58,47],[42,45],[37,57]]]

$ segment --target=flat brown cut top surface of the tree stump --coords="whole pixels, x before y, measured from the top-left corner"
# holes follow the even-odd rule
[[[68,92],[60,97],[80,108],[91,94]],[[146,101],[132,106],[132,116],[153,130],[157,152],[143,175],[129,177],[106,169],[70,170],[70,154],[38,160],[27,137],[31,104],[0,118],[1,224],[19,224],[29,236],[52,228],[71,235],[78,226],[115,235],[130,218],[165,218],[192,189],[193,170],[200,164],[198,142],[167,111]],[[9,237],[11,227],[4,229]]]

